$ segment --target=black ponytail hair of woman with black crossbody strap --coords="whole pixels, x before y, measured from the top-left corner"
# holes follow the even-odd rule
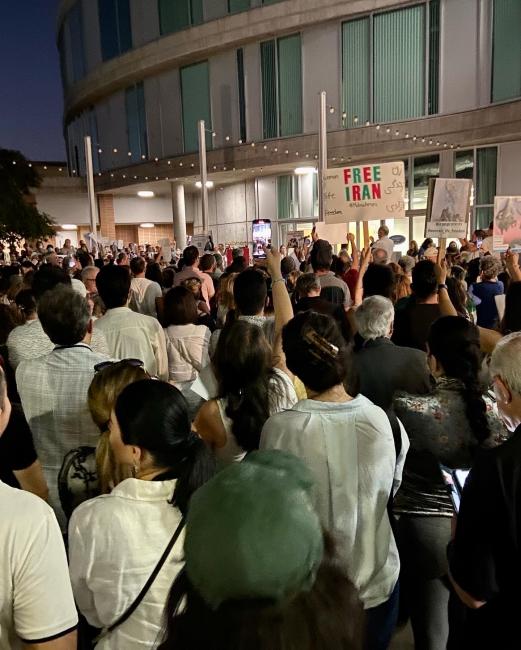
[[[214,462],[192,432],[181,392],[162,381],[136,381],[120,393],[115,413],[123,442],[146,450],[157,467],[178,479],[172,505],[186,514],[192,494],[214,473]]]

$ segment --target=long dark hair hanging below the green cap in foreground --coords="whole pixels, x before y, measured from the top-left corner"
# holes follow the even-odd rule
[[[324,538],[313,587],[282,603],[244,599],[212,610],[181,572],[170,591],[159,650],[360,650],[363,608],[335,561],[331,539]]]

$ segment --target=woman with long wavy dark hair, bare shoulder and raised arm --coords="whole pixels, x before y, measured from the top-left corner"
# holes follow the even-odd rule
[[[203,404],[195,419],[198,434],[221,466],[258,449],[268,417],[297,402],[280,344],[280,333],[293,309],[280,271],[280,253],[268,250],[266,254],[275,311],[273,349],[258,325],[245,320],[228,323],[212,360],[217,399]]]

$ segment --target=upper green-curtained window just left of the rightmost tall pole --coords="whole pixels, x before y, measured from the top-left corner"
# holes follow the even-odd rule
[[[265,138],[302,133],[300,34],[261,43]]]

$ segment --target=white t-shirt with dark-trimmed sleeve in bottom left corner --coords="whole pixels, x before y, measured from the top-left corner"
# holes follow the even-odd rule
[[[53,511],[0,481],[0,522],[0,650],[71,631],[78,616]]]

